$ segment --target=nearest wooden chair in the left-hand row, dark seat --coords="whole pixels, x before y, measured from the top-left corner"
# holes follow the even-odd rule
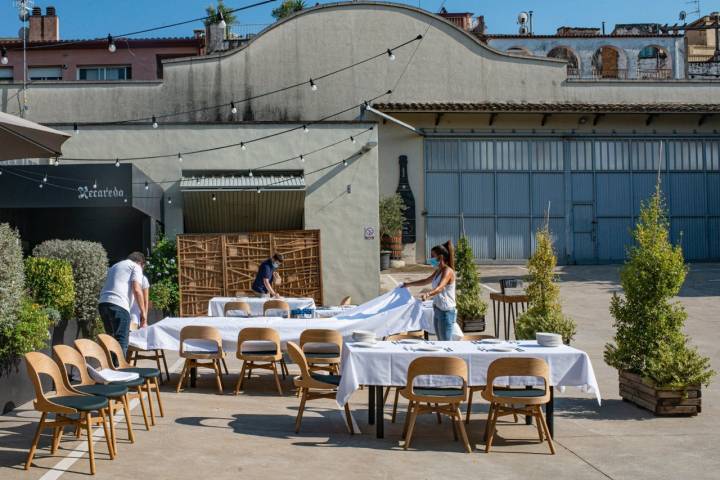
[[[76,428],[85,427],[88,437],[88,454],[90,456],[90,473],[95,475],[95,451],[93,450],[93,425],[102,423],[105,431],[105,441],[107,443],[110,458],[115,458],[115,450],[113,448],[111,436],[108,432],[106,423],[106,414],[108,400],[105,397],[86,395],[68,388],[63,381],[60,368],[44,353],[29,352],[25,354],[25,364],[27,365],[28,375],[35,387],[35,401],[33,406],[35,410],[42,412],[40,423],[35,431],[28,458],[25,462],[25,470],[29,470],[32,465],[35,451],[37,450],[40,433],[46,428],[53,429],[53,439],[51,453],[57,451],[60,440],[62,439],[63,429],[72,425]],[[55,384],[55,395],[46,396],[43,390],[40,375],[49,376]],[[97,412],[98,417],[93,417],[93,412]],[[48,420],[48,414],[54,414],[53,420]]]

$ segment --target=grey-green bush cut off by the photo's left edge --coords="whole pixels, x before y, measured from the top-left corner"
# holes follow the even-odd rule
[[[0,325],[15,323],[24,284],[20,236],[7,223],[0,223]]]

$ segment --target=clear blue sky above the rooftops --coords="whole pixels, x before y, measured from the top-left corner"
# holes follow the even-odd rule
[[[239,7],[255,0],[226,0],[230,7]],[[314,5],[316,0],[306,0]],[[0,37],[16,36],[20,22],[12,0],[0,0]],[[55,6],[60,16],[62,38],[97,38],[141,30],[162,24],[189,20],[204,15],[212,0],[35,0],[36,6]],[[267,24],[270,11],[279,0],[269,5],[242,12],[239,23]],[[418,5],[418,2],[405,2]],[[442,0],[421,0],[419,5],[437,12]],[[558,26],[597,26],[604,20],[608,29],[615,23],[674,23],[680,10],[695,7],[686,0],[448,0],[449,11],[469,11],[485,15],[491,33],[517,31],[516,16],[533,10],[535,33],[553,33]],[[720,10],[720,0],[701,0],[703,12]],[[694,19],[694,17],[693,17]],[[186,36],[197,24],[162,30],[148,36]]]

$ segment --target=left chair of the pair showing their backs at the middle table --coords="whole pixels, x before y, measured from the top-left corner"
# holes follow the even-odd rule
[[[199,340],[207,342],[208,347],[203,349],[185,350],[185,342],[188,340]],[[212,344],[212,346],[210,345]],[[202,325],[188,325],[180,330],[180,357],[185,359],[176,392],[182,390],[190,371],[193,368],[209,368],[215,371],[218,392],[223,394],[221,360],[225,359],[225,352],[222,348],[222,335],[215,327]]]

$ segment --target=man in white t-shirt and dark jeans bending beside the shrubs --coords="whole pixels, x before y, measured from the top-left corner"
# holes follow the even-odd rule
[[[142,269],[145,255],[133,252],[108,270],[105,285],[100,292],[98,310],[105,332],[115,337],[127,353],[130,337],[130,304],[137,303],[140,309],[140,326],[147,324],[147,309],[142,291]]]

